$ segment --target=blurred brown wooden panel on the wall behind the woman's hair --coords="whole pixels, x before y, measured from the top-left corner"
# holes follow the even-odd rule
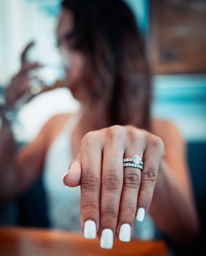
[[[150,0],[148,56],[158,74],[206,73],[206,2]]]

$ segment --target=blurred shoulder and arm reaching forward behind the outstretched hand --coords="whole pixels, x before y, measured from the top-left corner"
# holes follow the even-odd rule
[[[182,244],[190,241],[198,231],[185,143],[173,124],[158,121],[157,126],[155,132],[164,142],[165,156],[149,212],[161,230]]]

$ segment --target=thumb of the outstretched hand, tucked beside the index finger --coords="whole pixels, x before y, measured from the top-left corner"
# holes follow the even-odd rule
[[[81,179],[81,161],[80,158],[76,158],[68,167],[67,172],[63,177],[63,182],[67,186],[80,185]]]

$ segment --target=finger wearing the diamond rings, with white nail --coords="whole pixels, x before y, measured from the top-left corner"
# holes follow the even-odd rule
[[[142,158],[144,143],[141,141],[141,137],[139,138],[138,134],[134,133],[131,138],[128,140],[124,158],[133,158],[133,155],[138,155]],[[116,230],[119,240],[123,242],[129,242],[133,232],[140,184],[141,169],[130,166],[124,167],[123,191]]]

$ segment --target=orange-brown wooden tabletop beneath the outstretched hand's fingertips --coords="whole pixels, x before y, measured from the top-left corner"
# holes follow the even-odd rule
[[[1,256],[166,256],[163,241],[116,239],[111,250],[101,249],[97,238],[86,240],[82,233],[39,228],[0,227]]]

